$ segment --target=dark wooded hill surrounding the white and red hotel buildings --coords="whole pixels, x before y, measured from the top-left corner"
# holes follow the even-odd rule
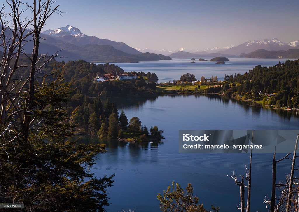
[[[62,62],[63,63],[63,62]],[[84,95],[89,97],[132,97],[154,96],[156,85],[154,82],[146,83],[142,77],[132,80],[112,80],[94,83],[93,79],[104,73],[123,73],[124,71],[114,64],[89,63],[83,60],[69,61],[65,63],[65,78],[73,80],[76,91],[71,97],[71,102],[82,102]],[[78,97],[81,99],[78,99]]]

